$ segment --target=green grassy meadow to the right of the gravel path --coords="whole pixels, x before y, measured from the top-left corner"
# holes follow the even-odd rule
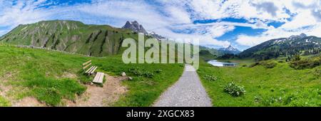
[[[270,69],[218,68],[202,62],[198,74],[214,106],[321,106],[321,78],[316,74],[320,68],[295,70],[288,63],[277,63]],[[210,82],[205,75],[218,80]],[[244,85],[246,94],[233,98],[224,93],[224,86],[232,81]]]

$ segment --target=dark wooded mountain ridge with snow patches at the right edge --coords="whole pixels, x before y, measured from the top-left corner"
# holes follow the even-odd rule
[[[257,60],[267,60],[280,56],[312,55],[320,53],[321,38],[316,36],[307,36],[301,33],[289,38],[275,38],[265,41],[257,46],[248,48],[241,52],[241,58],[256,58]]]

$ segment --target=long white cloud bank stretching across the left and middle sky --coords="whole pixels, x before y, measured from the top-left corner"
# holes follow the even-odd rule
[[[92,4],[76,4],[74,6],[52,6],[49,9],[36,9],[36,6],[43,2],[19,1],[15,6],[6,8],[4,16],[0,16],[2,25],[15,27],[21,23],[35,23],[49,19],[72,19],[95,23],[91,17],[113,19],[109,21],[113,26],[121,27],[126,21],[139,21],[147,30],[168,38],[190,38],[200,39],[202,44],[214,44],[218,46],[230,45],[228,41],[218,41],[213,36],[223,35],[222,32],[215,33],[215,28],[205,29],[211,34],[201,33],[175,33],[168,27],[177,24],[191,24],[190,15],[182,6],[173,5],[168,2],[165,13],[156,11],[154,6],[146,4],[144,1],[94,1]],[[166,4],[166,3],[164,3]],[[26,16],[21,16],[26,15]],[[87,19],[87,20],[86,20]],[[89,19],[89,20],[88,20]],[[172,28],[171,28],[172,29]],[[224,30],[227,29],[227,30]],[[232,30],[233,26],[220,28],[220,31]]]

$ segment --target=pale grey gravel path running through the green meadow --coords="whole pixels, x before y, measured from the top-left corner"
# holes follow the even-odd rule
[[[155,107],[210,107],[212,102],[192,65],[185,65],[180,79],[166,90]]]

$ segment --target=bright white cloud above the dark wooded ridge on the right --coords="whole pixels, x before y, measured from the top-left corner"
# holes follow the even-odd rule
[[[300,33],[306,33],[308,36],[321,36],[321,23],[317,20],[317,16],[312,13],[312,11],[319,11],[320,1],[273,1],[273,3],[275,6],[279,6],[279,8],[286,8],[291,11],[294,15],[292,20],[284,20],[285,24],[279,28],[268,28],[267,31],[258,36],[240,35],[236,40],[238,44],[242,46],[255,46],[272,38],[285,38]],[[276,18],[282,21],[282,19],[287,17],[277,16]]]

